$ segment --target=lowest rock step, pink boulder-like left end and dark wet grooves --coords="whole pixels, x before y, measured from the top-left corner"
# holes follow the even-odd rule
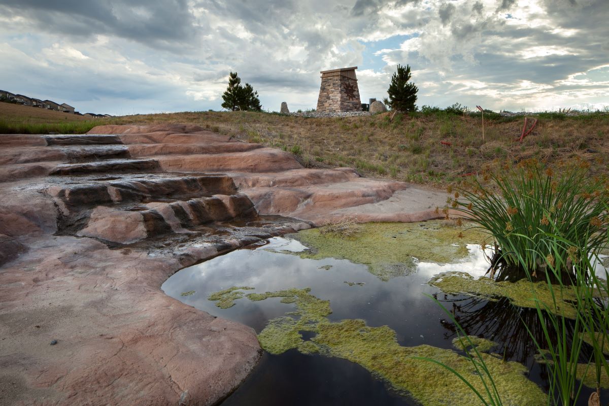
[[[126,244],[162,234],[189,234],[197,226],[256,215],[252,201],[242,194],[151,202],[128,209],[97,206],[76,234]]]

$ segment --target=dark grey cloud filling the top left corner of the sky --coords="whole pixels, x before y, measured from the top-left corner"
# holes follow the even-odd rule
[[[20,16],[38,30],[86,40],[104,34],[153,47],[188,43],[195,31],[186,0],[5,0],[4,16]],[[177,46],[179,47],[179,45]]]

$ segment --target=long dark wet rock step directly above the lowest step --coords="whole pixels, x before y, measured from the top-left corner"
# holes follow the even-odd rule
[[[125,177],[123,179],[90,180],[88,183],[68,187],[51,187],[49,195],[69,211],[111,203],[149,203],[150,201],[185,200],[212,195],[237,193],[233,179],[223,174],[203,176],[152,178]]]

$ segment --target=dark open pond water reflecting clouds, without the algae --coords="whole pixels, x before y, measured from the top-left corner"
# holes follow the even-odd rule
[[[454,309],[468,334],[499,341],[496,348],[510,360],[529,368],[529,378],[546,386],[543,366],[533,362],[533,346],[522,327],[521,317],[530,325],[538,322],[532,309],[511,306],[507,301],[489,302],[468,296],[444,295],[428,285],[429,279],[444,271],[466,271],[482,276],[488,268],[479,245],[468,245],[470,256],[456,264],[418,262],[411,275],[384,282],[368,272],[368,267],[347,260],[301,259],[277,251],[301,251],[300,242],[275,237],[267,245],[236,250],[199,265],[185,268],[163,284],[167,295],[212,315],[238,321],[260,332],[267,321],[294,310],[281,298],[250,301],[241,298],[229,309],[219,309],[207,296],[231,286],[250,286],[246,293],[274,292],[293,287],[311,287],[311,294],[330,301],[329,320],[361,318],[368,326],[387,325],[396,331],[403,346],[427,344],[452,348],[454,327],[440,307],[424,293],[437,295],[448,309]],[[325,265],[331,265],[328,270]],[[363,282],[348,285],[345,282]],[[190,296],[183,292],[195,291]],[[530,310],[530,311],[529,311]],[[534,320],[533,320],[534,319]],[[590,391],[580,397],[587,404]],[[603,396],[607,399],[607,395]],[[400,396],[366,369],[347,360],[323,355],[305,355],[296,349],[280,355],[265,353],[250,377],[222,405],[417,405]]]

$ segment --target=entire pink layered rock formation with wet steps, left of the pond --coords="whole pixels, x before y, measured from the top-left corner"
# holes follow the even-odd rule
[[[217,404],[258,340],[164,295],[172,273],[344,217],[432,219],[444,201],[194,125],[0,135],[0,404]]]

